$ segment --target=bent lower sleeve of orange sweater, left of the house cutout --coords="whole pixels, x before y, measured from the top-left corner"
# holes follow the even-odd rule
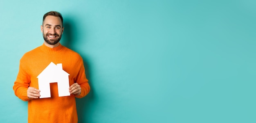
[[[23,64],[21,59],[18,76],[13,85],[13,91],[17,97],[19,97],[23,101],[28,101],[30,99],[27,97],[27,88],[29,86],[30,77],[25,71],[26,69],[24,67],[25,65]]]

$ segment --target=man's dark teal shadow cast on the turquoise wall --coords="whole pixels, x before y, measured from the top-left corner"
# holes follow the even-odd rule
[[[77,40],[76,37],[74,37],[74,33],[78,31],[76,28],[76,22],[74,22],[72,19],[65,18],[64,21],[64,32],[63,37],[61,39],[61,44],[70,48],[71,50],[75,49],[75,41]],[[85,31],[86,32],[86,31]],[[86,35],[83,35],[86,36]],[[76,98],[76,108],[77,108],[77,114],[78,114],[78,123],[88,123],[89,115],[90,114],[90,108],[92,107],[93,101],[94,101],[94,92],[93,92],[93,83],[90,81],[90,60],[88,60],[83,52],[78,52],[81,57],[83,58],[83,64],[85,67],[85,74],[86,78],[89,80],[90,84],[90,93],[86,95],[85,97],[78,99]]]

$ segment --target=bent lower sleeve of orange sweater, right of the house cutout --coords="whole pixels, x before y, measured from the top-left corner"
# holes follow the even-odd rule
[[[75,82],[81,86],[81,94],[79,96],[75,96],[75,97],[82,98],[82,97],[85,97],[85,95],[87,95],[90,92],[90,85],[89,85],[88,79],[86,78],[86,75],[85,75],[85,68],[83,65],[82,58],[80,58],[79,63],[80,63],[78,65],[79,72],[75,78]]]

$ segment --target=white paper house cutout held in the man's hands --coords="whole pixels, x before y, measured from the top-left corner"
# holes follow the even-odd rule
[[[38,87],[40,98],[51,97],[50,83],[58,83],[58,96],[70,96],[69,79],[66,71],[62,69],[62,64],[50,63],[38,76]]]

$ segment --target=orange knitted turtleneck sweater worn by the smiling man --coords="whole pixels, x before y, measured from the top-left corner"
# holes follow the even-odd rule
[[[38,89],[36,78],[48,65],[62,63],[63,70],[70,74],[70,86],[75,82],[81,86],[82,98],[90,91],[88,80],[85,76],[83,59],[76,52],[59,45],[50,48],[46,45],[31,50],[20,59],[20,67],[13,90],[17,97],[28,101],[28,123],[77,123],[76,100],[74,95],[58,97],[57,83],[51,83],[51,97],[29,99],[27,88]]]

